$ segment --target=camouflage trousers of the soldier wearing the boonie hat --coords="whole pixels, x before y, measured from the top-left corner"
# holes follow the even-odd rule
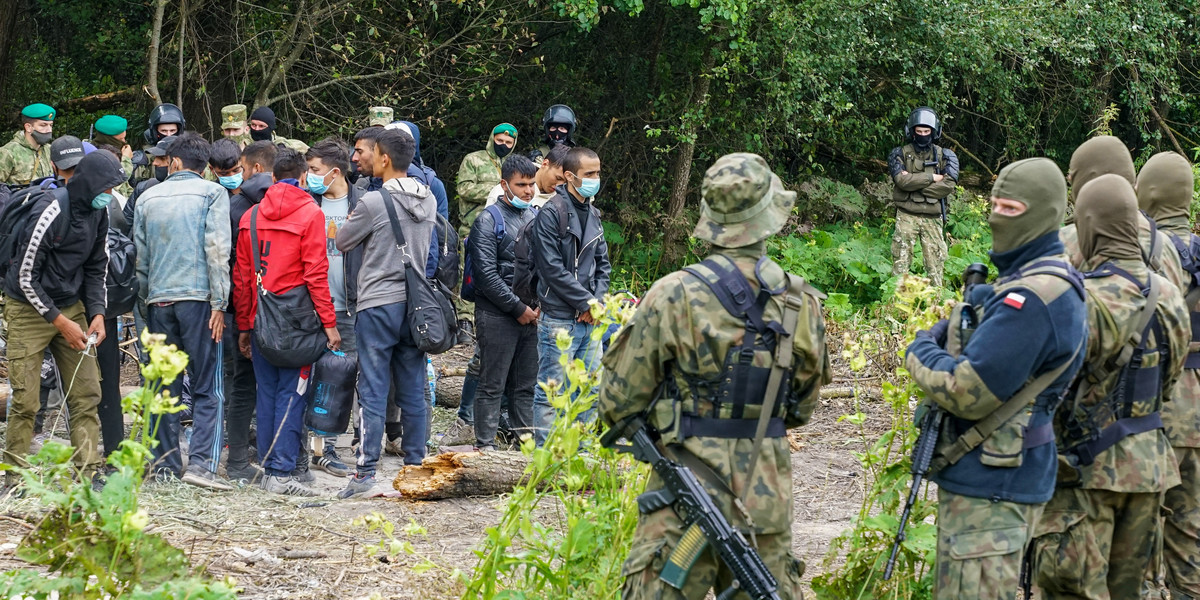
[[[731,520],[731,522],[736,521]],[[704,598],[709,589],[715,589],[720,594],[730,587],[733,581],[732,574],[718,560],[716,553],[710,547],[692,565],[683,589],[676,589],[659,578],[667,557],[679,544],[680,536],[683,536],[683,521],[670,508],[638,517],[632,548],[620,570],[622,576],[625,577],[625,586],[620,593],[622,599],[692,600]],[[775,582],[779,584],[779,598],[803,600],[800,576],[804,574],[804,563],[797,560],[792,554],[791,532],[758,535],[756,541],[758,542],[758,556],[762,557],[762,562],[775,576]],[[749,599],[745,593],[740,592],[733,598],[737,600]]]

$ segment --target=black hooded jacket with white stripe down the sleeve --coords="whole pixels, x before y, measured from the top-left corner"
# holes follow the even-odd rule
[[[47,322],[80,300],[89,322],[104,314],[108,210],[92,209],[91,200],[124,180],[115,156],[92,152],[84,156],[67,184],[66,206],[61,193],[42,194],[19,234],[14,263],[5,275],[5,295],[29,304]]]

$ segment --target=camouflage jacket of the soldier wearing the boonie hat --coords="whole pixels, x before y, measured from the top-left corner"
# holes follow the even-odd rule
[[[761,256],[758,248],[722,251],[737,262],[738,269],[754,288],[757,288],[754,266]],[[786,281],[784,270],[775,263],[766,263],[762,272],[772,287]],[[787,382],[790,395],[784,419],[788,427],[798,427],[809,421],[820,397],[821,385],[829,383],[832,377],[821,302],[814,295],[805,294],[803,298],[805,310],[799,316],[792,337],[796,368],[791,382]],[[775,296],[768,304],[763,318],[782,319],[782,306],[781,298]],[[726,312],[708,286],[698,278],[676,271],[659,280],[646,293],[637,313],[604,356],[601,418],[613,424],[647,410],[668,370],[684,377],[720,379],[725,356],[731,348],[742,343],[744,334],[745,322]],[[756,354],[756,364],[762,362],[758,366],[770,366],[770,360],[761,359],[762,354]],[[664,443],[682,443],[683,448],[708,464],[733,493],[742,494],[751,485],[744,469],[754,439],[689,437],[679,440],[673,427],[678,422],[680,407],[692,401],[688,385],[680,386],[679,395],[678,402],[667,397],[656,402],[649,414],[650,424],[662,431]],[[757,420],[758,408],[761,407],[746,404],[743,416]],[[788,440],[786,437],[766,438],[760,452],[752,482],[755,493],[746,502],[748,511],[758,533],[790,532],[792,472]],[[701,481],[704,481],[708,493],[721,506],[722,512],[730,516],[731,522],[736,526],[744,524],[733,510],[728,493],[713,487],[703,478]],[[656,475],[652,475],[647,484],[648,490],[661,486],[662,481]]]

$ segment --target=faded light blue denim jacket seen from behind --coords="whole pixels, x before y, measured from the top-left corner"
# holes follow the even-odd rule
[[[202,301],[214,311],[228,307],[233,240],[224,187],[192,170],[172,173],[138,198],[133,244],[143,302]]]

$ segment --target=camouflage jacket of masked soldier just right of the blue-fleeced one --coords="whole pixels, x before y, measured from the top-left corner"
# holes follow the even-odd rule
[[[1103,257],[1093,258],[1085,268],[1099,268]],[[1183,371],[1183,359],[1187,355],[1188,341],[1192,337],[1190,318],[1183,305],[1183,296],[1165,277],[1150,274],[1146,266],[1136,260],[1114,260],[1114,265],[1124,269],[1139,281],[1146,281],[1147,275],[1159,283],[1158,316],[1168,336],[1169,361],[1162,365],[1164,400],[1169,400],[1175,383]],[[1138,313],[1146,304],[1141,290],[1129,280],[1120,275],[1090,277],[1087,288],[1087,366],[1081,372],[1102,368],[1112,356],[1121,353],[1126,342],[1134,335],[1138,326]],[[1148,341],[1153,348],[1157,340]],[[1163,356],[1147,354],[1145,366],[1158,364]],[[1092,385],[1081,382],[1079,396],[1068,398],[1055,420],[1060,444],[1070,445],[1070,427],[1068,420],[1078,415],[1080,420],[1087,416],[1084,408],[1093,407],[1104,401],[1115,389],[1120,371]],[[1081,374],[1082,377],[1082,374]],[[1134,404],[1130,416],[1142,416],[1153,413],[1159,407]],[[1109,422],[1098,424],[1100,427]],[[1163,430],[1147,431],[1129,436],[1116,445],[1104,450],[1096,462],[1079,468],[1080,486],[1085,490],[1109,490],[1114,492],[1160,492],[1180,482],[1175,454],[1166,440]]]

